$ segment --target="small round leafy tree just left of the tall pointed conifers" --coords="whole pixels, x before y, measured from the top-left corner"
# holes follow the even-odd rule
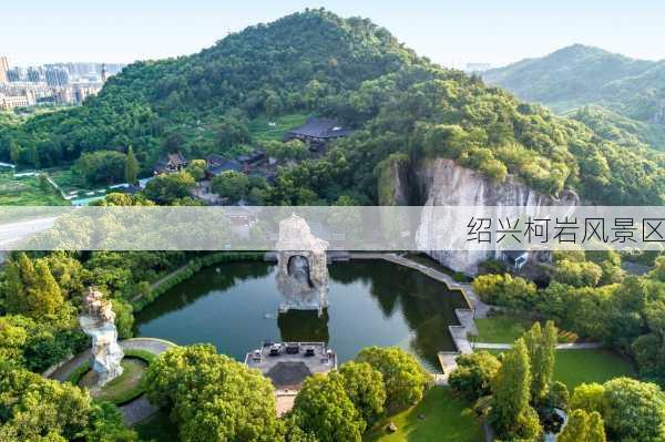
[[[457,369],[450,373],[450,387],[469,400],[491,394],[492,379],[499,372],[501,362],[487,351],[474,351],[457,358]]]

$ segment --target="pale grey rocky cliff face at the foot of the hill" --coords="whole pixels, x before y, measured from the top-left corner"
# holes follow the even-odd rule
[[[452,160],[429,160],[416,167],[415,183],[419,186],[421,203],[424,206],[494,206],[499,215],[501,207],[521,206],[530,207],[538,212],[541,206],[575,206],[580,204],[576,194],[566,192],[561,198],[555,199],[548,195],[538,193],[524,184],[508,178],[503,183],[494,183],[481,174],[457,165]],[[402,194],[408,192],[401,191]],[[436,219],[432,217],[436,216]],[[469,275],[478,273],[478,265],[493,257],[494,251],[470,250],[450,251],[453,243],[460,240],[461,233],[446,230],[444,212],[424,210],[421,225],[417,233],[417,241],[424,245],[427,253],[444,266]],[[436,220],[436,222],[434,222]],[[441,229],[443,226],[443,229]],[[466,233],[464,233],[466,234]],[[462,241],[466,241],[466,236]],[[439,245],[433,247],[429,245]],[[440,249],[437,249],[440,248]],[[444,250],[448,248],[449,250]]]

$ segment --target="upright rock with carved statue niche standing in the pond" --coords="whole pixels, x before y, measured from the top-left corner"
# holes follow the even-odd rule
[[[293,214],[279,223],[277,288],[285,297],[279,310],[328,307],[328,243],[311,234],[307,222]]]

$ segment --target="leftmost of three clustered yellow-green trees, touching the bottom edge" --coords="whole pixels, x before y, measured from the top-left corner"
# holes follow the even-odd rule
[[[325,374],[307,378],[294,403],[298,426],[320,442],[361,441],[366,423],[341,382]]]

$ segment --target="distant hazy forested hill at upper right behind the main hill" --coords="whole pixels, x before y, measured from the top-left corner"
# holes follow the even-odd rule
[[[665,61],[634,60],[575,44],[488,71],[483,79],[522,100],[665,150]],[[594,109],[574,113],[586,105]]]

